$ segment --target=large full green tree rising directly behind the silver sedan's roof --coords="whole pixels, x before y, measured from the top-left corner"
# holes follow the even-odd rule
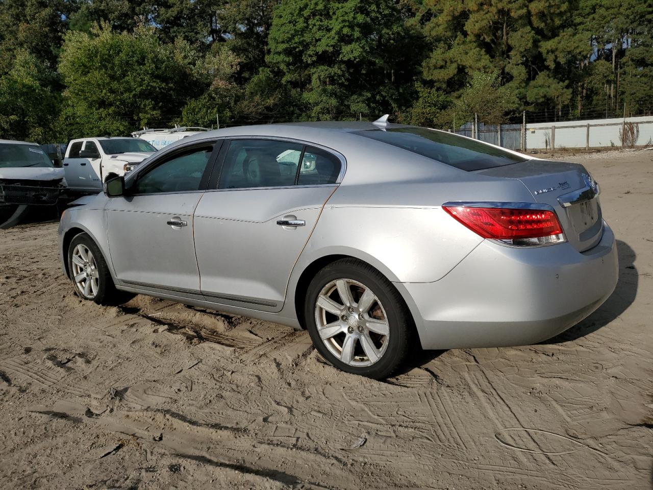
[[[267,62],[310,118],[387,111],[411,78],[409,39],[389,0],[287,0],[274,10]]]

